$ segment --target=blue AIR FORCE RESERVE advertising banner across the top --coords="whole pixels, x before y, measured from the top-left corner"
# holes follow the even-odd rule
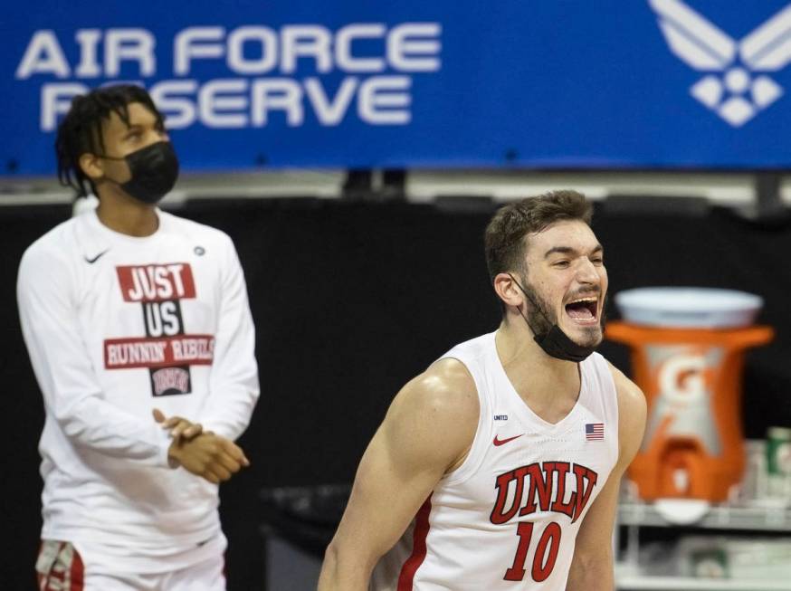
[[[4,8],[0,174],[71,97],[144,85],[186,170],[791,167],[787,0]]]

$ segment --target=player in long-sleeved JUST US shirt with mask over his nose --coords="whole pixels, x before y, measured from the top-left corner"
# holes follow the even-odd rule
[[[99,205],[19,266],[46,412],[38,587],[224,591],[216,485],[249,465],[233,442],[258,396],[233,242],[157,207],[178,160],[144,89],[76,97],[56,150],[62,184]]]

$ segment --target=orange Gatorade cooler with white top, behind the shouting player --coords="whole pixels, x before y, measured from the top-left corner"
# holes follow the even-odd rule
[[[762,300],[742,291],[643,288],[622,291],[623,322],[606,337],[632,348],[634,381],[648,424],[629,468],[644,500],[727,500],[741,481],[744,350],[773,330],[750,326]]]

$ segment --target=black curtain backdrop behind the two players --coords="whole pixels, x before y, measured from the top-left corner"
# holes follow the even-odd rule
[[[258,329],[262,398],[241,440],[253,465],[222,490],[229,589],[262,587],[262,487],[350,482],[398,389],[454,344],[496,328],[482,253],[491,211],[294,198],[216,199],[175,212],[233,237]],[[0,207],[3,589],[34,588],[41,527],[43,405],[16,315],[16,268],[27,245],[70,213]],[[611,293],[691,285],[764,297],[758,320],[777,338],[748,353],[746,433],[791,424],[791,227],[720,209],[646,213],[605,203],[594,230]],[[605,342],[600,350],[628,373],[625,348]]]

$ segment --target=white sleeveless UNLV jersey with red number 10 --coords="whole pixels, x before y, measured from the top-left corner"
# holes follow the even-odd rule
[[[519,397],[495,333],[451,349],[481,415],[462,465],[446,474],[376,565],[371,591],[563,591],[577,530],[618,460],[618,402],[605,358],[580,364],[577,405],[559,423]]]

